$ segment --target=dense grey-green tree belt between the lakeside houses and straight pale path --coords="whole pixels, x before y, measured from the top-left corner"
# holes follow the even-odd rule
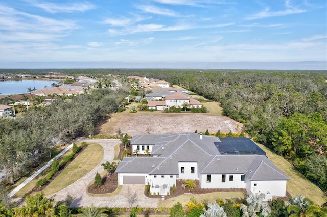
[[[119,106],[124,89],[97,89],[71,101],[58,98],[49,106],[34,107],[16,119],[0,120],[0,166],[10,183],[38,160],[49,156],[54,138],[63,144],[76,135],[91,135],[96,124]],[[37,156],[39,154],[41,157]]]

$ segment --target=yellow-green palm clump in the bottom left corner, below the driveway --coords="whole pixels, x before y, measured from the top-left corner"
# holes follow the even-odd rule
[[[54,198],[44,197],[44,193],[26,196],[22,207],[14,208],[15,216],[54,216]]]

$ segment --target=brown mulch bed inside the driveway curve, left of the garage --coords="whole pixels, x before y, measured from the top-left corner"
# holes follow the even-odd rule
[[[103,185],[96,187],[94,184],[91,184],[87,188],[87,192],[91,194],[106,194],[114,192],[118,187],[118,175],[116,173],[111,174],[110,178],[107,175],[102,178]]]

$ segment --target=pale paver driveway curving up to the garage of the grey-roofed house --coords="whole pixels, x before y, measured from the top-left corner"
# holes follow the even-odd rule
[[[88,172],[85,176],[74,182],[73,184],[65,187],[61,191],[57,192],[55,195],[55,200],[65,200],[66,196],[69,194],[75,197],[76,200],[73,202],[72,207],[89,207],[92,204],[96,207],[130,207],[128,202],[128,195],[134,195],[136,193],[137,198],[133,206],[140,207],[157,207],[158,199],[148,198],[144,195],[144,185],[123,185],[119,195],[112,197],[92,197],[86,193],[86,188],[89,183],[94,181],[94,177],[97,172],[102,173],[103,167],[102,163],[109,161],[112,162],[114,158],[114,146],[120,143],[118,139],[110,140],[84,140],[85,142],[98,143],[103,147],[103,158],[99,165]],[[81,142],[84,142],[81,141]],[[49,195],[48,197],[51,197]]]

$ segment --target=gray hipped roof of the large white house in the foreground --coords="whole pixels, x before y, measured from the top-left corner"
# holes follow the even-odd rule
[[[248,138],[224,140],[224,145],[232,145],[232,141],[242,144],[243,140],[256,146]],[[197,162],[199,174],[245,174],[249,180],[290,179],[265,155],[222,155],[216,147],[220,143],[218,137],[203,135],[200,139],[199,134],[191,132],[136,135],[131,144],[153,144],[152,154],[158,157],[125,157],[116,172],[178,175],[178,162]]]

